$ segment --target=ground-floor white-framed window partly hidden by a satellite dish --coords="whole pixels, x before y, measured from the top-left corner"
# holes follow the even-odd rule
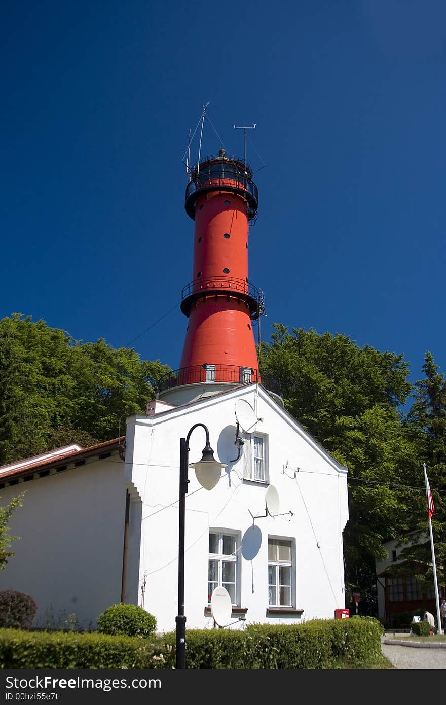
[[[209,533],[208,602],[216,587],[225,587],[233,605],[237,604],[237,537]]]

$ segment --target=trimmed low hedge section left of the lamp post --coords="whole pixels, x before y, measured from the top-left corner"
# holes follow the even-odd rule
[[[162,640],[152,643],[97,633],[0,630],[0,663],[7,669],[164,668],[165,655],[172,663],[169,649]]]

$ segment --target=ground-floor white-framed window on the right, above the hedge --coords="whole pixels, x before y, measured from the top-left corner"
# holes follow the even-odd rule
[[[268,539],[268,604],[292,606],[291,541]]]

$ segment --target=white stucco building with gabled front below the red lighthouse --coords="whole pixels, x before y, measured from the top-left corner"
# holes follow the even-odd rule
[[[243,445],[235,443],[240,400],[259,419],[252,432],[239,432]],[[231,595],[233,628],[241,628],[240,616],[293,623],[333,618],[345,606],[347,469],[252,383],[180,406],[149,404],[147,415],[127,419],[125,460],[116,439],[1,468],[1,503],[20,491],[25,497],[11,518],[20,539],[0,587],[35,598],[36,625],[61,611],[94,625],[124,589],[125,601],[144,603],[159,630],[175,629],[180,438],[197,423],[227,467],[211,491],[189,470],[187,627],[213,626],[209,597],[217,585]],[[202,457],[204,441],[204,429],[194,429],[189,462]],[[271,484],[280,498],[274,517],[266,512]]]

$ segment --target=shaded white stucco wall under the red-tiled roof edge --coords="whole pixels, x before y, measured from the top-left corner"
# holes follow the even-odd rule
[[[113,455],[20,482],[0,490],[0,503],[7,504],[22,491],[23,506],[9,522],[11,536],[20,539],[12,545],[16,556],[0,572],[0,589],[18,590],[35,599],[39,608],[35,626],[60,622],[62,611],[67,616],[75,613],[82,627],[95,625],[106,607],[120,601],[123,462]],[[137,546],[139,550],[139,536]],[[132,594],[136,601],[137,587]]]

